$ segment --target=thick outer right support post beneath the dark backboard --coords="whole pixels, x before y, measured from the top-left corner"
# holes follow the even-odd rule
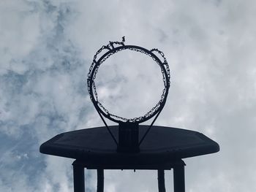
[[[185,169],[184,161],[173,167],[174,192],[185,192]]]

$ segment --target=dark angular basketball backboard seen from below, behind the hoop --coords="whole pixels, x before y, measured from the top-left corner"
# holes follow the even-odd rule
[[[140,137],[148,126],[140,126]],[[110,126],[118,140],[118,126]],[[170,164],[182,158],[206,155],[219,151],[217,142],[197,131],[153,126],[140,145],[139,153],[117,153],[116,143],[107,128],[86,128],[62,133],[43,143],[40,152],[66,158],[75,158],[83,164],[102,165],[105,169],[140,168]],[[148,165],[148,166],[147,166]]]

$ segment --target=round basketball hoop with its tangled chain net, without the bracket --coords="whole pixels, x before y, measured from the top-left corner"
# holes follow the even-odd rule
[[[121,123],[121,122],[143,123],[144,121],[149,120],[150,118],[153,118],[154,115],[157,115],[159,112],[162,111],[162,108],[164,107],[165,101],[167,99],[168,90],[170,88],[170,69],[169,69],[169,65],[167,64],[165,55],[164,53],[162,53],[162,51],[158,49],[147,50],[143,47],[139,47],[136,45],[124,45],[124,41],[125,39],[123,37],[121,42],[109,42],[108,45],[103,45],[94,55],[94,59],[88,73],[88,79],[87,79],[88,91],[89,91],[90,99],[94,104],[94,107],[96,108],[97,112],[99,112],[99,115],[101,114],[105,118],[108,118],[109,120],[112,120],[116,123]],[[110,57],[110,55],[117,54],[122,50],[132,50],[141,54],[148,55],[158,64],[162,73],[162,81],[164,84],[164,89],[162,91],[160,100],[157,102],[157,104],[154,107],[151,108],[151,110],[149,110],[148,112],[146,112],[146,114],[141,115],[138,118],[124,118],[118,115],[114,115],[113,113],[109,112],[108,109],[106,109],[98,99],[98,93],[95,86],[95,79],[96,79],[96,74],[99,70],[99,66],[101,66],[104,63],[104,61],[106,61]],[[97,58],[99,53],[102,53],[102,56]],[[159,54],[162,57],[162,61],[159,59],[159,57],[155,53]]]

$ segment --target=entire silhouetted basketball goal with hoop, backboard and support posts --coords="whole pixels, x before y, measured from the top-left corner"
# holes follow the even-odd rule
[[[113,115],[98,99],[94,80],[99,66],[110,55],[121,50],[148,55],[156,61],[162,72],[164,89],[161,98],[156,106],[139,118],[128,119]],[[217,142],[196,131],[153,126],[165,105],[170,88],[170,69],[160,50],[124,45],[124,37],[121,42],[110,42],[94,55],[87,83],[91,101],[105,126],[62,133],[40,147],[41,153],[75,159],[72,164],[75,192],[85,191],[84,168],[97,169],[97,192],[104,190],[104,169],[157,170],[160,192],[165,192],[165,170],[173,169],[174,191],[184,192],[185,164],[182,159],[219,151]],[[118,126],[108,126],[104,118],[118,123]],[[154,119],[149,126],[140,125],[150,118]]]

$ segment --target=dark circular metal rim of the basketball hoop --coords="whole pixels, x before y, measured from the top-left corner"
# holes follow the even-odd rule
[[[97,96],[94,96],[95,95],[94,91],[96,91],[94,79],[96,77],[96,74],[97,74],[97,71],[99,69],[99,66],[110,55],[113,55],[114,53],[118,53],[118,51],[121,51],[121,50],[137,50],[140,53],[144,53],[144,54],[150,56],[160,66],[161,72],[163,74],[163,82],[165,84],[165,89],[163,90],[163,93],[161,95],[161,99],[157,102],[157,105],[151,109],[151,110],[154,110],[153,112],[150,110],[144,116],[140,116],[139,118],[128,119],[128,118],[119,117],[117,115],[113,115],[110,112],[108,112],[108,110],[106,110],[105,107],[102,106],[102,104],[100,104],[100,102],[97,99]],[[157,49],[153,49],[153,50],[150,51],[150,50],[147,50],[147,49],[145,49],[143,47],[139,47],[139,46],[136,46],[136,45],[121,45],[121,46],[118,46],[118,47],[113,47],[112,49],[108,48],[108,52],[104,53],[99,58],[99,60],[96,61],[97,54],[100,53],[100,51],[97,52],[97,54],[94,56],[94,61],[91,64],[90,71],[89,71],[89,74],[88,74],[88,79],[87,79],[89,95],[90,95],[91,101],[94,104],[94,107],[96,108],[97,112],[101,113],[105,118],[108,118],[109,120],[112,120],[112,121],[114,121],[116,123],[121,123],[121,122],[143,123],[146,120],[148,120],[150,118],[153,118],[154,115],[157,115],[158,112],[162,111],[162,108],[165,106],[165,101],[167,99],[167,94],[168,94],[168,91],[169,91],[169,88],[170,88],[170,73],[168,71],[169,70],[169,66],[167,64],[167,61],[165,60],[164,62],[162,62],[157,57],[157,55],[155,55],[153,53],[154,50],[157,50]],[[162,55],[163,58],[165,58],[163,53],[161,55]],[[96,91],[96,94],[97,94],[97,91]],[[101,105],[101,106],[99,107],[99,105]],[[102,108],[104,110],[102,110]],[[118,120],[116,118],[118,118],[120,120]]]

